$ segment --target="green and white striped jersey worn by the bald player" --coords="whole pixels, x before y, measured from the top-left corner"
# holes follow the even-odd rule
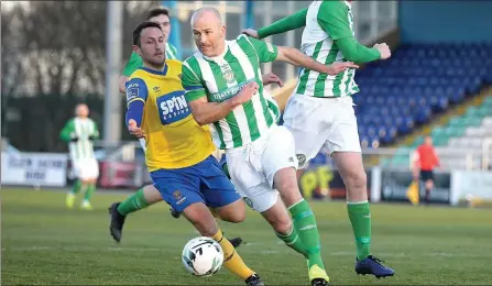
[[[236,96],[249,82],[256,81],[260,86],[249,102],[210,124],[217,147],[243,146],[276,123],[278,108],[265,94],[260,70],[260,63],[273,62],[276,56],[276,46],[240,35],[227,41],[226,50],[219,56],[207,57],[197,52],[184,62],[182,80],[187,101],[206,96],[209,102],[221,102]]]

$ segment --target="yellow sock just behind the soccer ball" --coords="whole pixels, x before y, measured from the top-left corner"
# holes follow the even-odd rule
[[[217,241],[223,251],[223,265],[230,272],[239,276],[241,279],[245,280],[248,277],[254,274],[250,267],[248,267],[242,261],[241,256],[236,252],[234,246],[223,238],[222,231],[218,231],[215,235],[211,237],[215,241]]]

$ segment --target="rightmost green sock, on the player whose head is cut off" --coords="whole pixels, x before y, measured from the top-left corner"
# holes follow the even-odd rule
[[[369,209],[369,202],[348,202],[347,210],[356,238],[357,257],[363,260],[371,254],[371,210]]]

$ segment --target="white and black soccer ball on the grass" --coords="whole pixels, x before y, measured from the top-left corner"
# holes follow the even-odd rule
[[[210,276],[222,267],[223,252],[217,241],[200,237],[186,243],[182,260],[185,268],[193,275]]]

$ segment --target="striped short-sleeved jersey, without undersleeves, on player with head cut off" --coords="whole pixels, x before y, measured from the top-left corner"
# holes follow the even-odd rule
[[[300,51],[326,65],[345,62],[343,53],[334,41],[350,35],[353,36],[354,31],[349,2],[313,1],[307,10]],[[353,68],[336,76],[302,69],[295,92],[313,97],[352,96],[359,92],[359,87],[353,80],[354,75]]]

